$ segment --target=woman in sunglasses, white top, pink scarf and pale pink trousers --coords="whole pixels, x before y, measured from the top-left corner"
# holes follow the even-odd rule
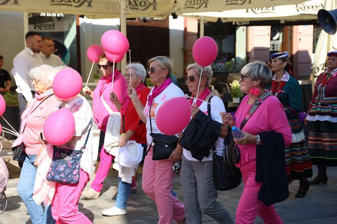
[[[173,61],[168,57],[157,56],[148,61],[147,71],[155,87],[151,89],[145,107],[139,100],[137,91],[132,86],[127,89],[127,94],[136,108],[137,114],[146,123],[148,146],[152,142],[151,132],[163,134],[156,125],[156,114],[159,107],[171,98],[184,96],[183,91],[171,82],[170,74],[172,70]],[[156,203],[159,214],[158,223],[160,224],[171,224],[173,220],[178,223],[185,221],[184,205],[171,193],[172,181],[176,176],[176,172],[172,170],[172,165],[181,160],[182,152],[183,148],[177,145],[168,159],[152,160],[153,151],[151,147],[145,157],[142,188]]]

